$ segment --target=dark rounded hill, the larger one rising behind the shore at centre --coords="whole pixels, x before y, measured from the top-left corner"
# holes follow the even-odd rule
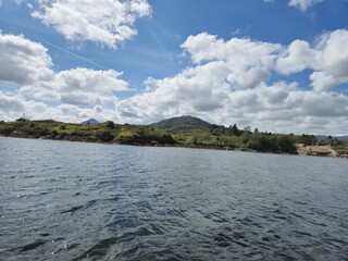
[[[152,123],[149,126],[171,132],[189,132],[194,129],[210,129],[214,125],[194,116],[178,116]]]

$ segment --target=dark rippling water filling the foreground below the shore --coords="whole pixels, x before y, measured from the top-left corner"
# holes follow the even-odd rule
[[[348,160],[0,138],[0,260],[348,260]]]

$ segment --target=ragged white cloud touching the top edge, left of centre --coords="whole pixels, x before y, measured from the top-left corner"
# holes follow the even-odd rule
[[[38,1],[32,15],[72,41],[94,41],[115,48],[133,38],[137,18],[151,14],[147,0]],[[98,7],[98,8],[96,8]]]

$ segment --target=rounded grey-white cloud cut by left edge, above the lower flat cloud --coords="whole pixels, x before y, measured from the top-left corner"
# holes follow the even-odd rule
[[[0,80],[30,84],[53,76],[48,50],[22,35],[0,32]]]

